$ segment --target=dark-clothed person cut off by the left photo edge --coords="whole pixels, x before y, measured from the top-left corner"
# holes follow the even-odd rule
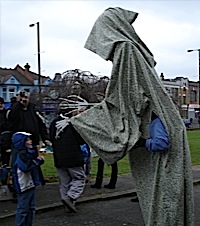
[[[8,120],[6,118],[7,110],[4,105],[4,99],[0,97],[0,154],[1,164],[9,166],[11,154],[11,135],[9,131]]]

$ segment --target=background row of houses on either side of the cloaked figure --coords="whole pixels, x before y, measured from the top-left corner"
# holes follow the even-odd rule
[[[74,73],[74,70],[72,71]],[[70,73],[63,74],[65,74],[63,82],[66,82],[66,76],[72,76]],[[40,76],[40,89],[42,88],[42,90],[44,90],[47,87],[49,88],[58,80],[58,75],[60,76],[61,74],[56,73],[53,79]],[[177,106],[182,118],[195,118],[200,116],[200,87],[198,82],[189,81],[188,78],[184,77],[166,79],[163,73],[161,73],[160,79]],[[20,65],[17,65],[13,69],[0,68],[0,96],[4,98],[5,104],[8,107],[10,105],[10,99],[15,96],[19,90],[23,89],[27,92],[38,93],[38,81],[39,75],[30,70],[28,63],[24,68]]]

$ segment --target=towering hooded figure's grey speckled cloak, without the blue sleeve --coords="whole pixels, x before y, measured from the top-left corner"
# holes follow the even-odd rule
[[[85,48],[113,63],[105,99],[71,119],[107,164],[129,156],[145,225],[194,225],[190,151],[182,119],[160,81],[153,54],[136,34],[137,13],[108,8],[96,20]],[[134,148],[149,138],[152,114],[162,121],[167,152]]]

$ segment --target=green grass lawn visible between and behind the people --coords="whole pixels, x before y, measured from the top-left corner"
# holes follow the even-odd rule
[[[192,159],[192,165],[200,165],[200,130],[187,131],[188,142],[190,146],[190,153]],[[45,178],[55,178],[57,177],[56,169],[54,167],[52,154],[42,154],[45,158],[45,164],[42,166],[42,171]],[[98,157],[92,159],[92,177],[96,176],[97,172],[97,161]],[[111,172],[111,167],[105,165],[104,176],[109,177]],[[118,162],[118,174],[130,173],[130,167],[128,162],[128,157],[125,156]]]

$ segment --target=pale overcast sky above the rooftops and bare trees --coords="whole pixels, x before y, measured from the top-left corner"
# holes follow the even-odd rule
[[[153,53],[158,75],[198,80],[200,1],[48,1],[0,0],[0,67],[29,63],[38,72],[37,27],[40,24],[41,74],[81,69],[110,76],[112,64],[84,49],[98,16],[109,7],[121,7],[139,16],[133,26]]]

